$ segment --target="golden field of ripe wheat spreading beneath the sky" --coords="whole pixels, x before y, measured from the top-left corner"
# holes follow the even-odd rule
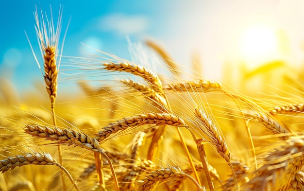
[[[235,80],[227,66],[217,82],[152,41],[133,46],[136,62],[70,57],[61,17],[43,15],[43,93],[18,101],[1,82],[0,191],[304,190],[302,69],[273,61]]]

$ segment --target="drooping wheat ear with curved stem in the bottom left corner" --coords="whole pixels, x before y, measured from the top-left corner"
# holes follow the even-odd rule
[[[70,181],[73,183],[73,186],[77,191],[80,189],[77,186],[77,183],[73,180],[71,174],[57,161],[52,158],[49,153],[26,153],[24,155],[16,155],[16,156],[7,156],[7,159],[0,160],[0,172],[4,173],[10,169],[14,169],[16,167],[35,164],[35,165],[56,165],[60,169],[62,169],[67,175]]]

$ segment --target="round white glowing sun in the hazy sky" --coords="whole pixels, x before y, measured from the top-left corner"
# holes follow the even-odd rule
[[[268,26],[252,26],[240,35],[240,54],[249,67],[275,59],[277,52],[277,35]]]

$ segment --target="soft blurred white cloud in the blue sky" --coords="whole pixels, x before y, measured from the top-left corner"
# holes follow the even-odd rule
[[[145,31],[148,27],[148,19],[142,15],[125,15],[115,13],[101,17],[100,29],[114,32],[118,35],[133,35]]]

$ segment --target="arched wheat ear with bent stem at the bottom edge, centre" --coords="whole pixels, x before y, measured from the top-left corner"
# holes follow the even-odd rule
[[[201,187],[197,181],[192,178],[189,174],[184,173],[179,167],[162,168],[156,171],[150,172],[145,178],[138,180],[139,185],[137,191],[149,191],[152,189],[153,184],[159,180],[170,180],[175,177],[184,176],[189,178],[197,186],[199,191],[204,191],[204,187]]]

